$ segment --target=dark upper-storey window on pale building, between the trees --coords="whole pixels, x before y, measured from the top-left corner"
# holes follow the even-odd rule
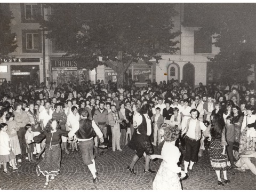
[[[194,53],[212,53],[212,36],[204,31],[194,32]]]

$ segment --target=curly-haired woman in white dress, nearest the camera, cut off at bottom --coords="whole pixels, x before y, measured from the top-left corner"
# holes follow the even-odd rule
[[[185,177],[184,171],[177,165],[180,158],[179,148],[175,146],[175,141],[179,137],[180,130],[176,126],[167,126],[164,129],[164,145],[161,155],[150,155],[150,159],[160,158],[163,159],[156,177],[153,181],[154,190],[181,190],[180,178]]]

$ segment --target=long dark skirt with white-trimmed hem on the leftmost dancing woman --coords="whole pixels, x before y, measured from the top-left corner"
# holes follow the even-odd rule
[[[42,173],[44,176],[57,176],[60,173],[61,149],[60,145],[45,146],[45,156],[43,160],[37,165],[36,172],[38,176]]]

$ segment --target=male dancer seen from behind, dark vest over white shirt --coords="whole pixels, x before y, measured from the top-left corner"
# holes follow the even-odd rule
[[[87,119],[88,112],[85,108],[80,108],[78,114],[81,116],[81,120],[72,125],[72,130],[69,132],[68,137],[73,137],[76,133],[77,140],[79,142],[79,148],[82,154],[84,164],[88,166],[93,175],[93,183],[98,182],[97,171],[95,167],[94,154],[93,154],[93,137],[94,132],[100,138],[100,142],[103,142],[103,134],[94,121]]]

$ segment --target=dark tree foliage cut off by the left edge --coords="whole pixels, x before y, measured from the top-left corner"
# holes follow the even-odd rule
[[[15,34],[10,31],[12,12],[9,3],[0,3],[0,58],[8,59],[8,54],[12,53],[15,45]],[[1,60],[0,60],[1,63]]]

